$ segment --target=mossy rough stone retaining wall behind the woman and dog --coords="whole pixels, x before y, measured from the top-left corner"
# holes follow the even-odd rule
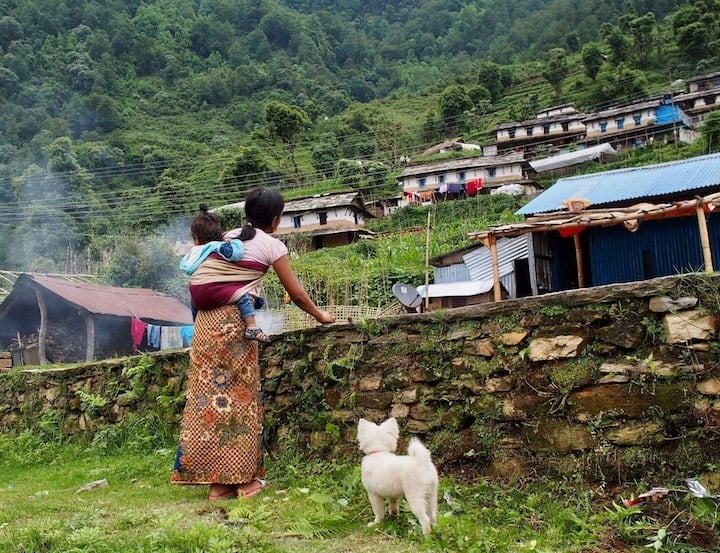
[[[395,416],[441,471],[694,476],[720,456],[720,277],[685,275],[285,333],[261,355],[271,451],[357,456]],[[178,420],[187,352],[0,375],[0,429]],[[159,400],[158,400],[159,398]]]

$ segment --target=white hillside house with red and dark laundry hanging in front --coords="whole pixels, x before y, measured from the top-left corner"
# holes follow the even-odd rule
[[[455,197],[487,194],[506,184],[528,189],[534,182],[528,177],[530,166],[522,154],[480,156],[411,165],[398,176],[404,205],[428,204]]]

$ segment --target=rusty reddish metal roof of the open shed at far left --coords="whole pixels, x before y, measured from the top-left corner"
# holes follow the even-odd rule
[[[134,317],[158,325],[190,325],[190,308],[180,300],[147,288],[118,288],[84,282],[70,282],[63,278],[22,274],[15,281],[12,292],[0,305],[0,317],[13,303],[23,303],[18,296],[29,289],[50,292],[80,311],[96,315]]]

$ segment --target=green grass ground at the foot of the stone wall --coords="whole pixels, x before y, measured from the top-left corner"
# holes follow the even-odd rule
[[[169,440],[127,438],[125,446],[107,435],[92,443],[0,436],[0,551],[699,552],[718,538],[711,500],[627,509],[578,483],[464,482],[462,474],[443,475],[431,536],[404,503],[398,517],[367,528],[359,454],[337,462],[280,454],[268,459],[271,485],[262,494],[210,503],[206,486],[169,483]],[[102,479],[107,486],[78,491]]]

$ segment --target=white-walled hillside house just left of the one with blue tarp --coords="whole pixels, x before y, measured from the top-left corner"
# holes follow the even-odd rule
[[[584,117],[573,105],[565,104],[539,111],[534,119],[501,123],[494,129],[497,150],[534,150],[576,142],[585,134]]]

